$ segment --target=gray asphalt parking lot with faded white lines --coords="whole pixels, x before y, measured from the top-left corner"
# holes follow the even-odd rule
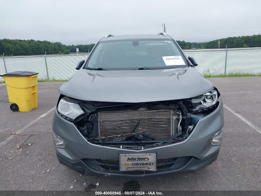
[[[58,162],[52,120],[63,82],[38,83],[38,108],[30,112],[12,112],[0,83],[0,190],[261,190],[261,77],[209,80],[225,106],[217,161],[195,173],[134,181],[81,176]]]

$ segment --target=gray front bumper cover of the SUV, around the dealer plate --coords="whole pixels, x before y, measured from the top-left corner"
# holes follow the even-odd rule
[[[212,146],[211,142],[215,133],[222,130],[223,125],[223,103],[220,97],[216,110],[201,118],[185,141],[167,146],[129,150],[95,145],[88,142],[76,126],[62,118],[57,110],[53,120],[53,131],[65,144],[64,149],[56,148],[59,162],[82,175],[141,177],[192,172],[211,164],[217,159],[220,149],[220,146]],[[120,172],[117,169],[119,154],[128,153],[155,153],[157,163],[159,162],[161,167],[155,172]],[[166,159],[172,164],[168,161],[165,164]]]

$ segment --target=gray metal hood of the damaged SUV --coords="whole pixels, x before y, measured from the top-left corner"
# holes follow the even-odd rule
[[[157,70],[80,69],[60,87],[71,98],[102,102],[152,102],[191,98],[213,90],[193,67]]]

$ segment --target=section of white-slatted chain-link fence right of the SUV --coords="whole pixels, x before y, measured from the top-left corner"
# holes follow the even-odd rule
[[[184,50],[196,59],[201,73],[261,73],[261,47],[235,49]]]

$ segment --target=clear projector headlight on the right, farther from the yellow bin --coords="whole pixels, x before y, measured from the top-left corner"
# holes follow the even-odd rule
[[[193,107],[193,111],[202,111],[205,108],[212,108],[217,103],[217,90],[212,90],[203,95],[193,97],[190,102]]]

